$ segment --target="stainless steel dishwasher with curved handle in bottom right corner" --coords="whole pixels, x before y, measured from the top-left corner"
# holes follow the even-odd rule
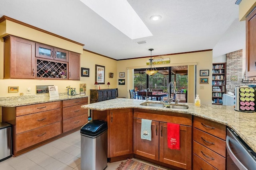
[[[236,134],[227,128],[227,170],[256,170],[256,153]]]

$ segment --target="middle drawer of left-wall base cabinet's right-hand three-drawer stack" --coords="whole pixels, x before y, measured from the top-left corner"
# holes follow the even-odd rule
[[[83,106],[83,105],[84,104],[70,106],[70,107],[64,107],[62,109],[63,120],[70,119],[72,117],[76,117],[78,115],[88,113],[88,109],[81,108],[81,106]]]

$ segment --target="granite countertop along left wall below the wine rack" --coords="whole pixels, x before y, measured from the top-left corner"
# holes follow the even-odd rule
[[[14,96],[14,97],[3,97],[0,98],[0,106],[2,107],[17,107],[17,106],[26,106],[31,104],[40,104],[47,102],[55,102],[76,98],[85,98],[88,97],[86,95],[74,95],[70,96],[67,93],[59,93],[59,97],[50,98],[49,94],[36,94],[29,96]]]

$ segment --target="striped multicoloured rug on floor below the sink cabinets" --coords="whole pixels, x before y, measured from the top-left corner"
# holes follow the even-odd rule
[[[128,159],[126,162],[121,162],[118,168],[116,168],[116,170],[163,170],[163,169],[156,168],[154,166],[150,166],[142,162],[137,162],[132,159]]]

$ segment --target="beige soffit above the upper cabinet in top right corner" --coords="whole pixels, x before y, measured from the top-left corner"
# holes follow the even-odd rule
[[[256,0],[242,0],[239,4],[239,21],[246,20],[246,16],[256,6]]]

